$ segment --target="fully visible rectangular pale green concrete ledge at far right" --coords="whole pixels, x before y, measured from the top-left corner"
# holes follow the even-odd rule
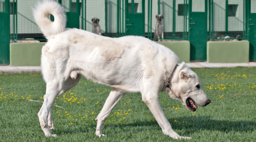
[[[207,62],[247,63],[249,62],[249,42],[207,42]]]

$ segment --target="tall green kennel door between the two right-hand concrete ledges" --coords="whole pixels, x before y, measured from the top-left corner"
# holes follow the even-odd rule
[[[189,0],[190,61],[206,61],[207,0]]]

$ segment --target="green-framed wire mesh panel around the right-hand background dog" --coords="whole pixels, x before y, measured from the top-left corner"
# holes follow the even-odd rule
[[[188,34],[188,3],[186,0],[153,0],[152,32],[155,32],[156,15],[164,16],[162,20],[164,39],[185,40]],[[156,7],[155,4],[158,4]]]

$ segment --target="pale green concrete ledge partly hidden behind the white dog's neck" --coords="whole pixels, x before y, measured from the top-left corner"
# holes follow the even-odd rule
[[[190,62],[190,43],[189,41],[177,41],[177,42],[157,42],[161,45],[168,47],[172,50],[178,57],[179,63]]]

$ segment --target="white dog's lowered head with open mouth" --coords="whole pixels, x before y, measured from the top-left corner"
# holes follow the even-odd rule
[[[168,94],[180,100],[190,111],[197,110],[196,104],[206,106],[211,102],[202,89],[202,82],[198,75],[184,62],[177,67],[171,82],[171,89],[166,88]]]

